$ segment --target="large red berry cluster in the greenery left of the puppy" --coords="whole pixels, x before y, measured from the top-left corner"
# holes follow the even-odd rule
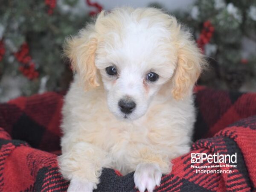
[[[35,70],[35,63],[29,56],[29,45],[24,43],[21,45],[20,50],[15,52],[15,58],[22,64],[19,67],[21,73],[29,80],[38,78],[39,73]]]

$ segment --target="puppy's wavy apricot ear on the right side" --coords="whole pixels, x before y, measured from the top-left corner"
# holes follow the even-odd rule
[[[178,36],[177,67],[172,80],[172,95],[176,100],[183,99],[192,93],[201,70],[207,64],[189,32],[181,30]]]

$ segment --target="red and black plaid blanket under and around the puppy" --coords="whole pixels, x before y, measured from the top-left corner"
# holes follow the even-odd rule
[[[256,93],[205,87],[195,92],[198,114],[191,152],[172,160],[172,172],[163,175],[155,190],[256,191]],[[67,190],[69,182],[56,160],[62,98],[44,93],[0,104],[0,191]],[[192,163],[198,153],[236,154],[237,162]],[[96,191],[137,191],[133,173],[103,169],[100,180]]]

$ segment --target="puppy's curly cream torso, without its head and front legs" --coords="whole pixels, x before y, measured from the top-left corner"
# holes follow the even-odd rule
[[[100,159],[106,161],[104,167],[125,175],[147,158],[168,173],[169,160],[189,151],[195,121],[192,98],[177,102],[160,91],[147,113],[133,122],[120,121],[109,112],[103,87],[85,93],[75,81],[65,100],[63,152],[78,142],[93,144],[106,153]]]

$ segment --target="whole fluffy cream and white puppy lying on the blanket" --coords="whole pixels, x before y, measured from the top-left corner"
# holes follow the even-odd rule
[[[61,125],[68,191],[93,191],[103,167],[134,172],[144,192],[189,152],[192,90],[206,65],[189,32],[159,9],[101,12],[64,51],[76,71]]]

